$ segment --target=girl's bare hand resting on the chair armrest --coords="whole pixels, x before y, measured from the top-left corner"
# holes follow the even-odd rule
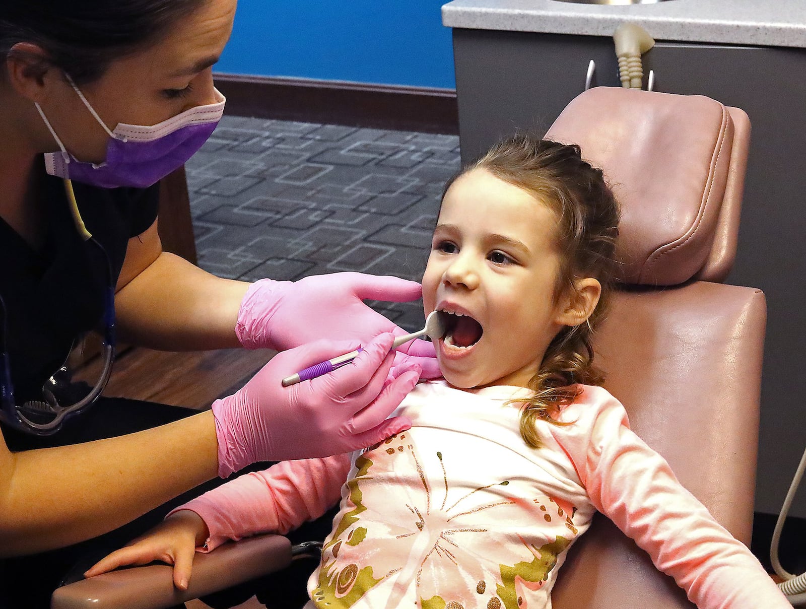
[[[124,565],[163,561],[173,565],[173,585],[187,590],[196,546],[202,545],[208,535],[207,525],[196,512],[181,510],[168,516],[145,536],[102,558],[84,576],[91,578]]]

